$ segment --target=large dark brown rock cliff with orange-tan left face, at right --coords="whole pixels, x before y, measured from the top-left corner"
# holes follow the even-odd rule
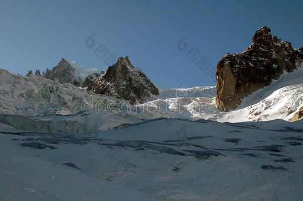
[[[303,48],[272,37],[266,26],[258,29],[252,44],[242,53],[225,55],[217,65],[216,104],[233,110],[241,99],[279,79],[284,70],[292,72],[303,64]]]

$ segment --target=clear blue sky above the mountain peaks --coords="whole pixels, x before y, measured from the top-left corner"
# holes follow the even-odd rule
[[[0,68],[25,74],[65,58],[107,69],[110,54],[128,55],[158,86],[215,85],[208,70],[225,54],[244,51],[263,25],[302,47],[302,19],[302,0],[1,0]],[[95,46],[88,48],[92,33]],[[94,51],[102,44],[108,53],[100,59]],[[200,52],[193,61],[192,48]],[[201,58],[211,63],[205,72],[196,66]]]

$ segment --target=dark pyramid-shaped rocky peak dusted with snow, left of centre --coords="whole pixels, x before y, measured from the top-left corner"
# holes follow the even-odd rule
[[[118,62],[108,67],[103,76],[99,76],[91,91],[98,94],[126,100],[130,104],[143,103],[158,95],[158,89],[138,67],[134,67],[128,56],[120,57]]]

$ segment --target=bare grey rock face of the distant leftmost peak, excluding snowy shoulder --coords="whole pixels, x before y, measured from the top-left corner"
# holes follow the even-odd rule
[[[51,80],[57,80],[60,83],[70,83],[75,86],[81,86],[82,80],[79,77],[75,77],[75,68],[71,64],[62,58],[59,64],[54,67],[52,70],[46,69],[44,74],[45,78]]]

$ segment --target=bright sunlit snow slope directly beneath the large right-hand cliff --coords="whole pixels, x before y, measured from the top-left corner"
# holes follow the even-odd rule
[[[290,120],[303,106],[303,67],[284,72],[270,86],[243,99],[237,109],[218,112],[220,122]]]

